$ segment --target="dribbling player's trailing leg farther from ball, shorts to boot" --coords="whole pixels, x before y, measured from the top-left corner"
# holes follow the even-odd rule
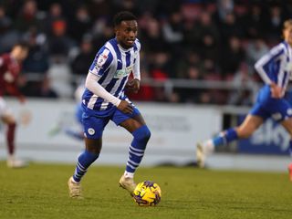
[[[102,147],[102,132],[109,119],[100,119],[93,116],[84,116],[85,150],[78,156],[75,172],[68,180],[69,195],[81,197],[80,181],[89,166],[99,158]]]

